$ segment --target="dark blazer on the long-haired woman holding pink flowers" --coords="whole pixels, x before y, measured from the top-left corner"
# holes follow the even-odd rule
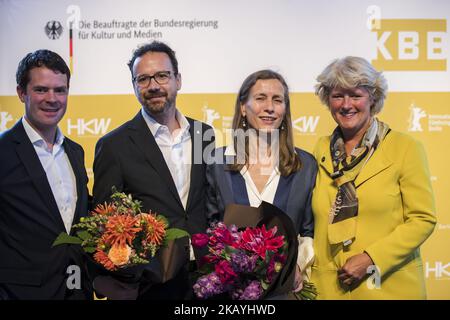
[[[317,164],[314,157],[296,148],[302,167],[299,171],[280,177],[273,205],[283,210],[294,223],[299,235],[314,236],[314,217],[311,209],[312,190],[316,183]],[[207,212],[210,218],[223,218],[230,203],[250,205],[245,180],[239,172],[227,170],[225,147],[216,149],[207,168]],[[231,160],[231,159],[230,159]],[[231,162],[230,162],[231,163]]]

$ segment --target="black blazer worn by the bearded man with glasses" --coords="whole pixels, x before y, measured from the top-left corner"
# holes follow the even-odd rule
[[[190,118],[187,120],[192,139],[192,166],[186,210],[183,208],[163,154],[141,111],[132,120],[97,142],[94,160],[94,204],[108,201],[111,187],[116,186],[118,191],[131,194],[133,198],[140,200],[144,212],[152,210],[164,215],[169,220],[170,227],[184,229],[190,234],[205,232],[206,165],[203,151],[205,148],[211,151],[214,149],[214,144],[211,145],[211,142],[214,142],[214,135],[210,126]],[[203,139],[207,130],[211,130],[208,133],[212,135],[210,137],[205,135]],[[197,251],[195,254],[196,257],[201,255]],[[186,264],[187,262],[186,260]],[[178,280],[172,281],[173,287],[170,281],[161,286],[153,286],[147,298],[183,298],[189,288],[184,287],[183,290],[186,292],[183,293]],[[143,291],[146,291],[146,288],[141,285],[141,292]]]

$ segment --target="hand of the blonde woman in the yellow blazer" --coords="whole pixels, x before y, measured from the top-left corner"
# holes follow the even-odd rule
[[[373,264],[372,259],[365,252],[352,256],[338,270],[338,279],[342,284],[354,287],[367,275],[367,268]]]

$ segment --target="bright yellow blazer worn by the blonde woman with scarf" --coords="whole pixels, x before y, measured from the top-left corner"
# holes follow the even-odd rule
[[[391,130],[362,168],[355,180],[356,238],[345,251],[341,244],[328,242],[328,215],[337,192],[330,177],[330,137],[319,140],[314,155],[319,172],[312,198],[316,254],[312,281],[318,299],[426,299],[419,247],[433,232],[436,218],[422,144]],[[364,251],[379,268],[380,285],[369,275],[353,290],[343,289],[337,270]]]

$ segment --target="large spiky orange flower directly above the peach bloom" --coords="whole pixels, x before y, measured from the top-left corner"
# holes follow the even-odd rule
[[[136,233],[142,230],[138,224],[138,219],[130,215],[112,216],[106,223],[103,239],[111,245],[131,246]]]

